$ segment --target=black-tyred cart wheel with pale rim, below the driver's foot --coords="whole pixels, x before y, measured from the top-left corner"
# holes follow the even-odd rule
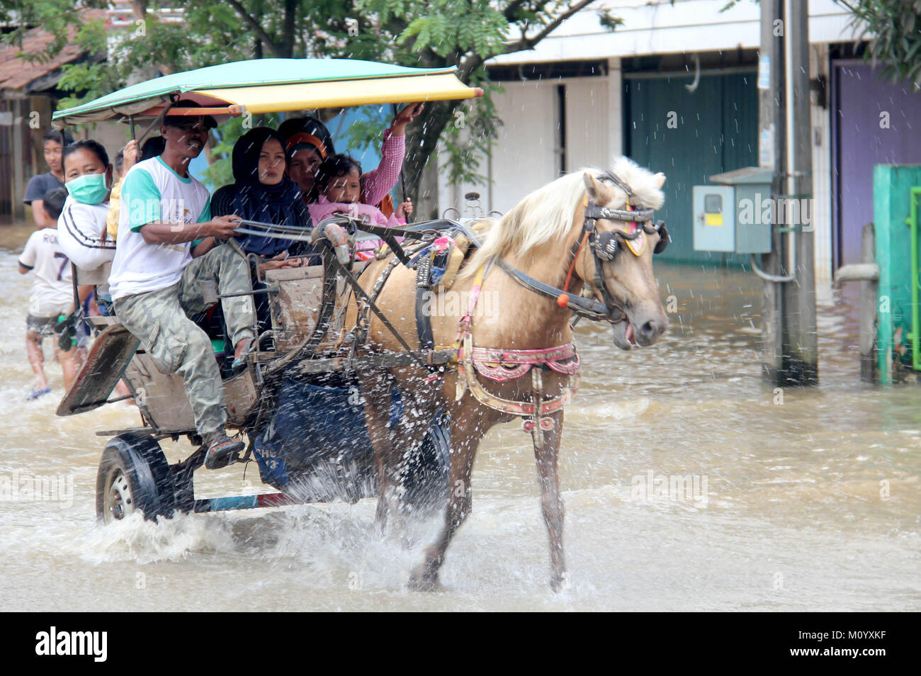
[[[174,507],[169,462],[154,437],[123,434],[111,439],[96,475],[97,518],[111,523],[140,510],[148,520],[169,519]]]

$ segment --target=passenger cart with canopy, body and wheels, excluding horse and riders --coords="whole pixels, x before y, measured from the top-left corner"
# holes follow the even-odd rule
[[[126,87],[87,104],[54,114],[54,124],[121,120],[156,128],[170,115],[209,114],[218,120],[262,112],[304,111],[361,104],[389,104],[440,99],[470,99],[482,90],[467,87],[454,69],[421,69],[348,60],[258,60],[221,64],[178,73]],[[193,99],[201,108],[172,104]],[[418,350],[402,354],[356,354],[354,336],[344,336],[345,309],[356,292],[367,294],[356,278],[367,261],[356,260],[356,239],[366,224],[347,216],[324,220],[314,232],[282,232],[269,224],[245,222],[241,231],[285,239],[311,240],[321,263],[270,270],[258,280],[253,295],[270,299],[272,330],[261,349],[248,356],[246,368],[232,373],[232,349],[215,341],[216,359],[227,377],[223,388],[230,430],[249,445],[240,461],[255,460],[264,484],[278,492],[195,499],[193,474],[204,463],[192,409],[179,374],[157,370],[134,335],[114,317],[87,317],[97,338],[87,364],[64,396],[57,413],[80,414],[127,399],[111,398],[119,380],[127,384],[141,425],[103,430],[111,437],[99,462],[96,510],[99,519],[123,519],[135,510],[146,519],[169,518],[177,512],[207,512],[344,499],[356,502],[377,495],[378,481],[371,439],[365,424],[356,373],[420,360]],[[424,244],[447,222],[418,224],[402,233]],[[330,237],[326,233],[332,233]],[[403,247],[389,232],[379,233],[400,256]],[[76,272],[76,271],[75,271]],[[99,274],[99,271],[97,272]],[[105,276],[105,273],[101,273]],[[76,280],[75,276],[75,280]],[[80,284],[94,284],[81,273]],[[75,281],[76,289],[76,281]],[[217,301],[220,297],[215,296]],[[372,309],[379,311],[373,302]],[[204,324],[203,324],[204,328]],[[407,345],[408,347],[408,345]],[[430,364],[439,355],[426,353]],[[440,363],[447,361],[441,355]],[[402,415],[399,395],[391,402],[392,424]],[[169,464],[161,442],[188,437],[199,448]],[[420,434],[406,458],[403,485],[407,504],[431,506],[447,492],[449,437],[436,416]],[[435,496],[435,497],[433,497]]]

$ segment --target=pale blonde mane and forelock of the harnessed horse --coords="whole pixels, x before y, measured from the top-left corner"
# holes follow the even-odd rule
[[[618,157],[614,160],[612,171],[633,189],[640,204],[659,209],[665,202],[657,175],[643,169],[632,159]],[[474,224],[477,229],[487,226],[489,229],[483,246],[473,254],[459,277],[474,274],[494,256],[509,251],[524,256],[544,242],[562,239],[572,226],[577,206],[585,199],[586,187],[582,175],[586,173],[598,180],[604,171],[578,169],[530,192],[502,218],[484,218]],[[615,196],[611,203],[604,206],[623,208],[626,194],[610,182],[607,185]]]

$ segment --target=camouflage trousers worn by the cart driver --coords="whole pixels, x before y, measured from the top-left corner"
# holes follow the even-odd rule
[[[192,259],[173,286],[113,301],[116,317],[141,339],[157,368],[182,376],[202,437],[224,431],[227,405],[211,339],[188,315],[210,308],[217,294],[251,290],[249,262],[224,244]],[[233,344],[256,337],[251,296],[222,298],[221,306]]]

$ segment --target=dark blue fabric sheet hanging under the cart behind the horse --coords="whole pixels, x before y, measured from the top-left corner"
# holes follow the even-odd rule
[[[401,415],[402,401],[393,390],[391,425]],[[279,390],[274,414],[256,437],[253,455],[262,482],[279,490],[284,490],[293,473],[324,461],[373,465],[358,388],[287,379]]]

